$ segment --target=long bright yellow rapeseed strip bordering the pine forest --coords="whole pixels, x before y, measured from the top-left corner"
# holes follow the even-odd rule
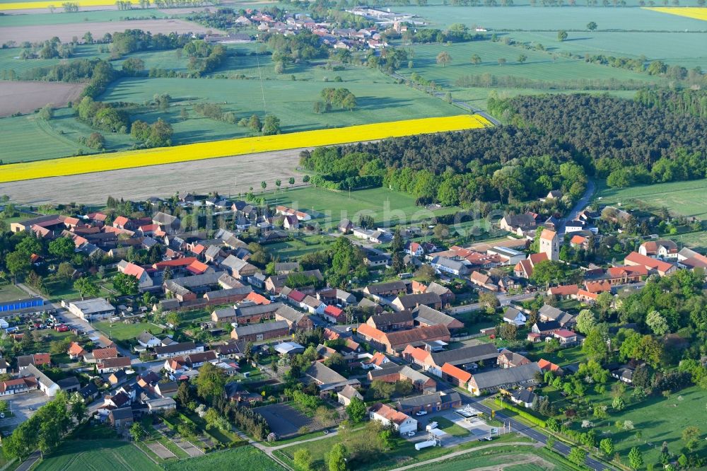
[[[318,129],[316,131],[277,134],[276,136],[226,139],[139,151],[55,158],[47,161],[12,163],[0,166],[0,183],[489,126],[491,123],[482,116],[458,115]]]

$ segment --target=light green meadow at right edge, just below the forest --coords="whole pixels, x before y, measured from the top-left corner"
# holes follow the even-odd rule
[[[707,179],[630,188],[600,187],[597,197],[601,197],[602,204],[642,205],[654,211],[667,207],[675,214],[704,219],[707,216],[705,192]]]

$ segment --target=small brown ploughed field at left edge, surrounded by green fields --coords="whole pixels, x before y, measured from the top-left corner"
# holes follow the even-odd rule
[[[48,103],[62,107],[81,95],[83,83],[0,81],[0,117],[29,113]]]

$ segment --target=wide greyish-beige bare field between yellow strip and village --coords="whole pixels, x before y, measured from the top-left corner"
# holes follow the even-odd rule
[[[260,182],[268,189],[275,180],[288,187],[288,178],[302,184],[301,173],[295,171],[302,149],[252,153],[244,156],[212,158],[204,161],[170,163],[152,167],[86,173],[70,177],[40,178],[23,182],[0,183],[0,194],[13,201],[39,205],[44,203],[81,202],[104,204],[111,195],[116,198],[145,199],[168,197],[175,192],[218,191],[220,194],[260,190]]]

